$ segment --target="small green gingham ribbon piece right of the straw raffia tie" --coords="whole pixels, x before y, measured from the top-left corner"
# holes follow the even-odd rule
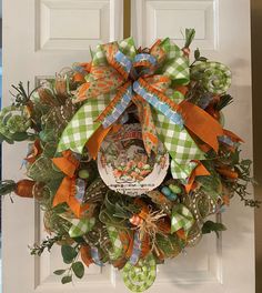
[[[188,234],[193,223],[194,218],[185,205],[180,203],[173,208],[171,215],[171,233],[183,229],[185,234]]]

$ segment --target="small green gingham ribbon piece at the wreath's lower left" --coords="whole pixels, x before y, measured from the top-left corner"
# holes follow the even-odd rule
[[[68,232],[70,238],[80,238],[87,234],[95,224],[95,218],[75,219],[69,218],[67,214],[60,214],[60,216],[72,224]]]

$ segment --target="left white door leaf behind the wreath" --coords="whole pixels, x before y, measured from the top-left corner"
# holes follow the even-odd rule
[[[122,38],[121,0],[9,0],[3,3],[3,105],[11,84],[32,87],[73,62],[90,60],[90,47]],[[3,178],[19,180],[27,144],[3,145]],[[75,287],[62,286],[53,271],[62,267],[60,247],[43,257],[28,245],[46,238],[39,206],[31,200],[3,200],[3,292],[94,292],[113,287],[111,267],[91,266]],[[92,289],[93,287],[93,289]],[[95,290],[94,290],[95,287]]]

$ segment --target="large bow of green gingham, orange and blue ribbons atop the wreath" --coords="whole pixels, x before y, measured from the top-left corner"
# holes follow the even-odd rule
[[[74,101],[85,103],[66,128],[58,151],[81,153],[97,131],[104,137],[131,101],[138,108],[147,152],[157,152],[160,139],[178,165],[173,168],[178,178],[188,162],[204,159],[188,129],[218,151],[218,137],[223,134],[219,122],[184,101],[174,87],[189,83],[190,68],[189,58],[170,39],[159,40],[144,51],[135,49],[132,38],[101,44],[85,80]],[[92,150],[94,156],[97,152]]]

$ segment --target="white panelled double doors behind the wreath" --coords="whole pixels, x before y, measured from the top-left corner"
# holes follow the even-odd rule
[[[89,60],[89,46],[121,38],[120,0],[3,0],[3,104],[11,83],[52,75],[62,67]],[[171,37],[183,43],[181,31],[196,29],[194,47],[210,59],[229,64],[234,74],[234,105],[226,124],[245,140],[252,155],[249,0],[132,0],[132,30],[138,44]],[[20,179],[24,145],[3,148],[3,178]],[[39,209],[30,200],[3,203],[3,293],[128,292],[119,274],[105,266],[87,270],[82,281],[61,285],[52,274],[61,269],[60,250],[41,259],[27,251],[44,235]],[[222,238],[204,236],[199,246],[159,266],[149,292],[254,293],[253,212],[239,199],[222,215]],[[34,224],[36,223],[36,224]]]

